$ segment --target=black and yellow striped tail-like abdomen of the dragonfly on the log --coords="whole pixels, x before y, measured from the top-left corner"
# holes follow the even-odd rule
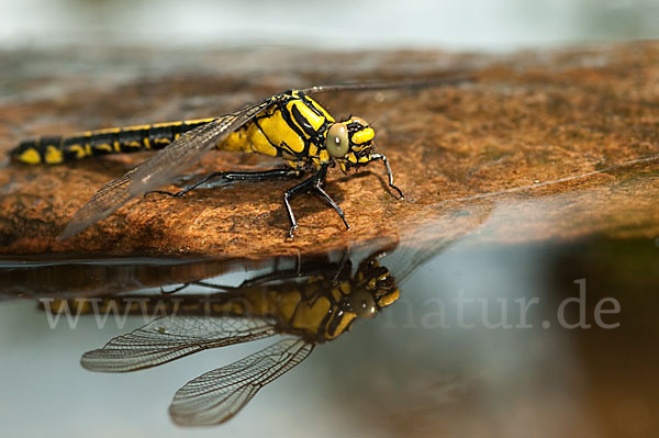
[[[161,149],[181,134],[211,121],[213,119],[200,119],[37,137],[21,142],[11,156],[31,165],[56,165],[91,156]]]

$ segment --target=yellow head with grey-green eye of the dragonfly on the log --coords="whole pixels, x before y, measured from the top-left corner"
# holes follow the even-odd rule
[[[364,119],[350,117],[330,126],[325,148],[345,172],[351,167],[360,167],[371,160],[375,138],[373,128]]]

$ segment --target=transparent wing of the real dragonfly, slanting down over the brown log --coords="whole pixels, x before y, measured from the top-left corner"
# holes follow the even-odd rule
[[[245,106],[181,135],[123,177],[103,186],[82,209],[76,212],[59,238],[66,239],[78,234],[94,222],[108,217],[131,199],[171,182],[209,149],[252,120],[276,99],[277,96]]]

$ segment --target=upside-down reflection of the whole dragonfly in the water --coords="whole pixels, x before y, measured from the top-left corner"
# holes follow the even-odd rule
[[[181,288],[177,288],[150,297],[124,294],[55,300],[47,305],[51,312],[66,305],[76,311],[81,307],[81,314],[103,314],[113,308],[142,316],[153,315],[159,307],[157,312],[163,316],[82,356],[82,367],[99,372],[148,369],[202,350],[283,335],[269,347],[206,372],[177,391],[169,407],[176,424],[217,425],[235,416],[264,386],[301,363],[317,345],[336,339],[350,330],[355,321],[372,318],[399,300],[399,281],[380,262],[382,257],[392,257],[402,281],[447,245],[438,240],[410,250],[388,244],[365,257],[355,270],[344,255],[339,262],[315,259],[234,288],[203,280],[181,287],[221,290],[210,295],[181,294]]]

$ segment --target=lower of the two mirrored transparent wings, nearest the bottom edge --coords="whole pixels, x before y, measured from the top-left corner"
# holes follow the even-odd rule
[[[177,391],[169,415],[181,426],[224,423],[265,385],[303,361],[313,344],[286,338],[237,362],[206,372]]]

